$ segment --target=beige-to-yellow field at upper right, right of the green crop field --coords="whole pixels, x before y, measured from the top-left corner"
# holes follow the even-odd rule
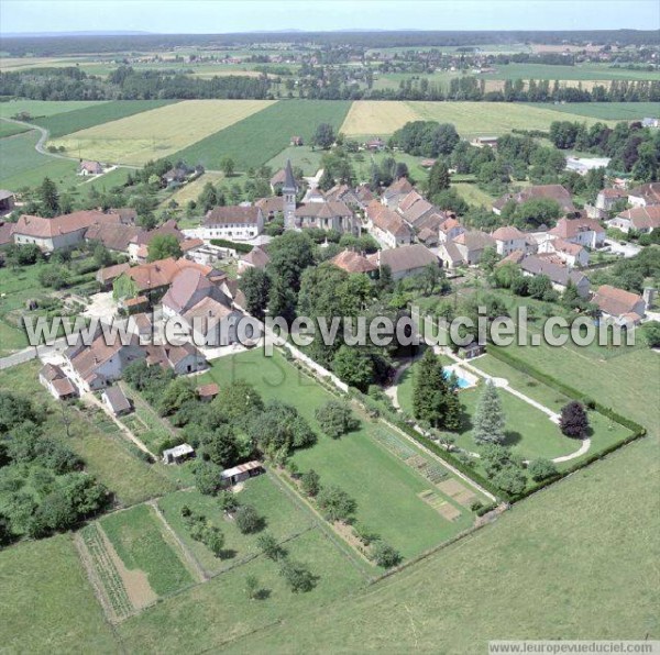
[[[408,121],[453,123],[463,136],[503,134],[517,130],[548,130],[552,121],[572,120],[571,114],[529,104],[499,102],[405,102],[362,100],[353,102],[341,127],[348,136],[392,134]],[[592,124],[597,119],[575,116]],[[608,121],[601,121],[608,122]],[[613,121],[609,121],[613,123]]]

